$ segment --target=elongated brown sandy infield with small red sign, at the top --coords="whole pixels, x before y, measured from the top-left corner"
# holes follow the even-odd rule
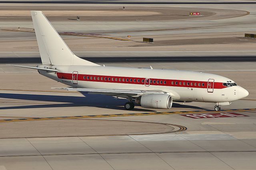
[[[222,10],[210,8],[172,8],[172,7],[127,7],[125,10],[117,7],[49,7],[26,6],[20,10],[18,6],[0,6],[0,20],[30,21],[30,10],[42,10],[48,20],[63,21],[72,19],[71,16],[80,16],[83,21],[134,21],[134,20],[198,20],[223,19],[244,16],[248,14],[241,10]],[[15,9],[15,10],[14,10]],[[190,12],[200,12],[200,16],[190,16]],[[7,18],[5,18],[7,16]],[[84,16],[84,17],[83,17]]]

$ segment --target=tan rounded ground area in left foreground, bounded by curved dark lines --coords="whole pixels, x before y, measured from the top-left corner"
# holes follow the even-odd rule
[[[84,126],[86,124],[86,126]],[[100,126],[97,126],[100,125]],[[20,129],[20,126],[24,128]],[[12,127],[13,132],[6,134]],[[47,127],[47,128],[46,128]],[[143,127],[143,128],[140,128]],[[92,135],[125,135],[132,133],[152,133],[174,130],[173,127],[155,123],[104,120],[56,120],[40,122],[0,123],[0,138],[42,137],[42,136],[92,136]],[[55,129],[55,130],[52,130]],[[118,132],[116,129],[119,129]],[[140,129],[140,130],[138,130]],[[24,136],[25,135],[25,136]]]

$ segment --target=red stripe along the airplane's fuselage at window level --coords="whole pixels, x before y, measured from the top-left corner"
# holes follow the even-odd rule
[[[72,73],[59,73],[57,72],[57,76],[59,79],[67,79],[72,80]],[[86,79],[84,79],[84,77]],[[89,77],[89,79],[87,79]],[[92,77],[92,79],[91,79]],[[95,77],[95,78],[94,78]],[[103,80],[102,80],[103,78]],[[106,78],[106,80],[105,80]],[[110,78],[110,80],[109,80]],[[112,80],[114,79],[114,80]],[[116,81],[117,79],[117,81]],[[121,79],[121,81],[120,81]],[[124,81],[123,81],[124,79]],[[128,81],[127,81],[128,79]],[[132,79],[132,81],[130,81]],[[136,81],[134,82],[134,79]],[[138,82],[138,79],[140,82]],[[120,76],[109,76],[109,75],[88,75],[88,74],[78,74],[78,81],[94,81],[94,82],[106,82],[106,83],[124,83],[124,84],[140,84],[144,85],[145,82],[142,82],[142,80],[145,81],[146,78],[141,77],[120,77]],[[174,79],[154,79],[154,78],[148,78],[150,81],[152,80],[152,83],[150,85],[160,85],[160,86],[172,86],[172,87],[193,87],[193,88],[207,88],[207,81],[190,81],[190,80],[174,80]],[[155,81],[155,83],[154,83]],[[159,81],[159,83],[157,83]],[[162,83],[161,83],[162,81]],[[166,81],[166,84],[164,82]],[[173,82],[173,84],[172,84]],[[178,84],[176,84],[176,82]],[[181,85],[180,85],[181,82]],[[185,83],[185,85],[184,85]],[[189,85],[188,85],[189,83]],[[192,83],[192,85],[191,85]],[[196,85],[195,85],[196,83]],[[199,83],[201,84],[199,86]],[[204,83],[204,86],[202,84]],[[220,82],[214,82],[214,89],[223,89],[226,88],[226,86],[223,85],[223,83]]]

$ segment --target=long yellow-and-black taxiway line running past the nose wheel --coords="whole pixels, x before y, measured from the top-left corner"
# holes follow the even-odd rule
[[[81,115],[81,116],[62,116],[62,117],[28,117],[18,119],[0,119],[0,123],[8,122],[24,122],[24,121],[48,121],[48,120],[64,120],[64,119],[84,119],[84,118],[106,118],[106,117],[128,117],[128,116],[147,116],[147,115],[184,115],[184,114],[201,114],[201,113],[225,113],[225,112],[244,112],[256,111],[255,109],[226,109],[222,111],[172,111],[172,112],[153,112],[153,113],[124,113],[124,114],[108,114],[108,115]]]

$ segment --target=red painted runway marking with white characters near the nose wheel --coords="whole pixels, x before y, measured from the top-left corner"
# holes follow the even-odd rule
[[[202,119],[202,118],[220,118],[220,117],[246,117],[247,115],[242,115],[239,113],[202,113],[202,114],[186,114],[182,115],[190,117],[193,119]]]

